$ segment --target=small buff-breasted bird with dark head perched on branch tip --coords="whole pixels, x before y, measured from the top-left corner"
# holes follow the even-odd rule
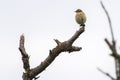
[[[85,26],[86,15],[81,9],[77,9],[75,15],[75,20],[80,26]]]

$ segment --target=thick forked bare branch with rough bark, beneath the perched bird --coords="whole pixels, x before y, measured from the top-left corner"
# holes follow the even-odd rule
[[[34,68],[31,68],[31,69],[29,65],[29,56],[26,53],[25,47],[24,47],[25,38],[24,38],[24,35],[21,35],[19,50],[22,55],[23,68],[25,69],[25,72],[23,73],[23,80],[32,80],[32,79],[39,78],[36,76],[40,74],[42,71],[44,71],[61,52],[66,51],[66,52],[71,53],[74,51],[80,51],[82,49],[81,47],[72,46],[72,44],[83,32],[84,32],[84,27],[81,27],[67,41],[60,42],[59,40],[55,39],[57,46],[49,51],[48,57],[43,62],[41,62],[40,65]]]

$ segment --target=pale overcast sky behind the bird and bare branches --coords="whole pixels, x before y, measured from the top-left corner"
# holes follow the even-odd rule
[[[120,1],[103,1],[120,46]],[[109,24],[99,0],[1,0],[0,1],[0,80],[22,80],[23,64],[18,50],[25,35],[30,65],[35,67],[56,46],[53,39],[68,40],[78,29],[75,10],[87,16],[85,32],[74,42],[83,49],[61,53],[38,80],[110,80],[100,67],[115,77],[114,60],[104,38],[111,40]],[[119,51],[119,49],[118,49]],[[120,51],[119,51],[120,52]]]

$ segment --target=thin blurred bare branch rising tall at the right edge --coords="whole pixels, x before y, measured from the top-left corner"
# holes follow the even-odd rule
[[[114,33],[113,33],[113,29],[112,29],[112,22],[110,19],[110,16],[108,14],[108,11],[106,10],[105,6],[103,5],[102,1],[100,1],[101,6],[103,8],[103,10],[106,13],[106,16],[108,18],[108,22],[109,22],[109,27],[110,27],[110,32],[111,32],[111,36],[112,36],[112,43],[110,43],[110,41],[108,41],[107,38],[105,38],[105,42],[108,45],[108,47],[110,48],[112,54],[111,56],[114,57],[115,60],[115,70],[116,70],[116,80],[120,80],[120,55],[117,53],[117,49],[116,49],[116,41],[114,39]]]

